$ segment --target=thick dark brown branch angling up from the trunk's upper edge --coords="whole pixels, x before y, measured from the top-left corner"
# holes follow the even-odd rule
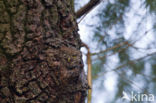
[[[92,8],[99,4],[100,1],[101,0],[90,0],[85,6],[83,6],[76,12],[76,17],[80,18],[82,15],[88,13]]]

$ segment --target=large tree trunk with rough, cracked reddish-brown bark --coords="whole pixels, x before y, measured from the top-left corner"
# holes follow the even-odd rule
[[[71,0],[0,0],[0,103],[84,103]]]

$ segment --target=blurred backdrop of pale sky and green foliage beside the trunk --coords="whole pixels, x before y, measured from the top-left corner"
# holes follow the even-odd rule
[[[75,0],[75,9],[87,2]],[[156,103],[156,0],[102,0],[77,21],[92,53],[92,103]],[[155,101],[124,100],[123,92]]]

